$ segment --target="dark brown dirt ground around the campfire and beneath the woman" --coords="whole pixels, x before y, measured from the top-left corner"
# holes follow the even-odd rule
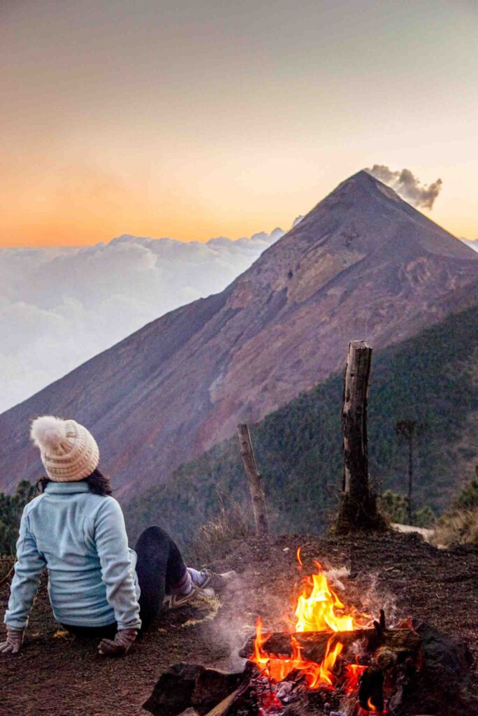
[[[235,569],[240,579],[223,597],[213,621],[184,626],[191,614],[165,615],[123,659],[96,654],[96,644],[57,634],[43,580],[31,612],[26,641],[15,657],[0,657],[1,716],[141,716],[142,704],[163,669],[180,661],[234,668],[238,648],[260,614],[266,627],[280,628],[291,616],[303,572],[313,560],[347,566],[346,600],[370,611],[385,606],[389,621],[414,616],[467,640],[474,656],[478,692],[478,548],[439,551],[416,534],[320,538],[281,536],[228,543],[211,565]],[[0,586],[0,611],[8,599]],[[375,612],[376,613],[376,612]],[[0,626],[0,641],[4,626]]]

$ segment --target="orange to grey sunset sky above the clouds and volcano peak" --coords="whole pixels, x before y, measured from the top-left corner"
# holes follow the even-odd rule
[[[474,0],[1,0],[0,246],[290,226],[361,168],[478,237]]]

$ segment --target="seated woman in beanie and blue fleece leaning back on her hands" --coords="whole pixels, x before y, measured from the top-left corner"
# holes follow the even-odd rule
[[[174,609],[210,599],[233,579],[233,572],[187,568],[159,527],[145,530],[135,551],[128,548],[122,510],[97,468],[97,442],[86,427],[44,415],[32,423],[31,439],[47,478],[21,516],[0,653],[19,652],[45,567],[54,618],[73,634],[102,639],[104,655],[126,654],[165,601]]]

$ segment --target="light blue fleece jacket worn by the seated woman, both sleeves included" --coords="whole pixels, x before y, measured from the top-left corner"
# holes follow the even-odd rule
[[[4,621],[28,623],[39,579],[49,572],[53,614],[62,624],[118,629],[141,627],[136,553],[128,548],[125,520],[112,497],[87,483],[48,483],[21,516],[17,562]]]

